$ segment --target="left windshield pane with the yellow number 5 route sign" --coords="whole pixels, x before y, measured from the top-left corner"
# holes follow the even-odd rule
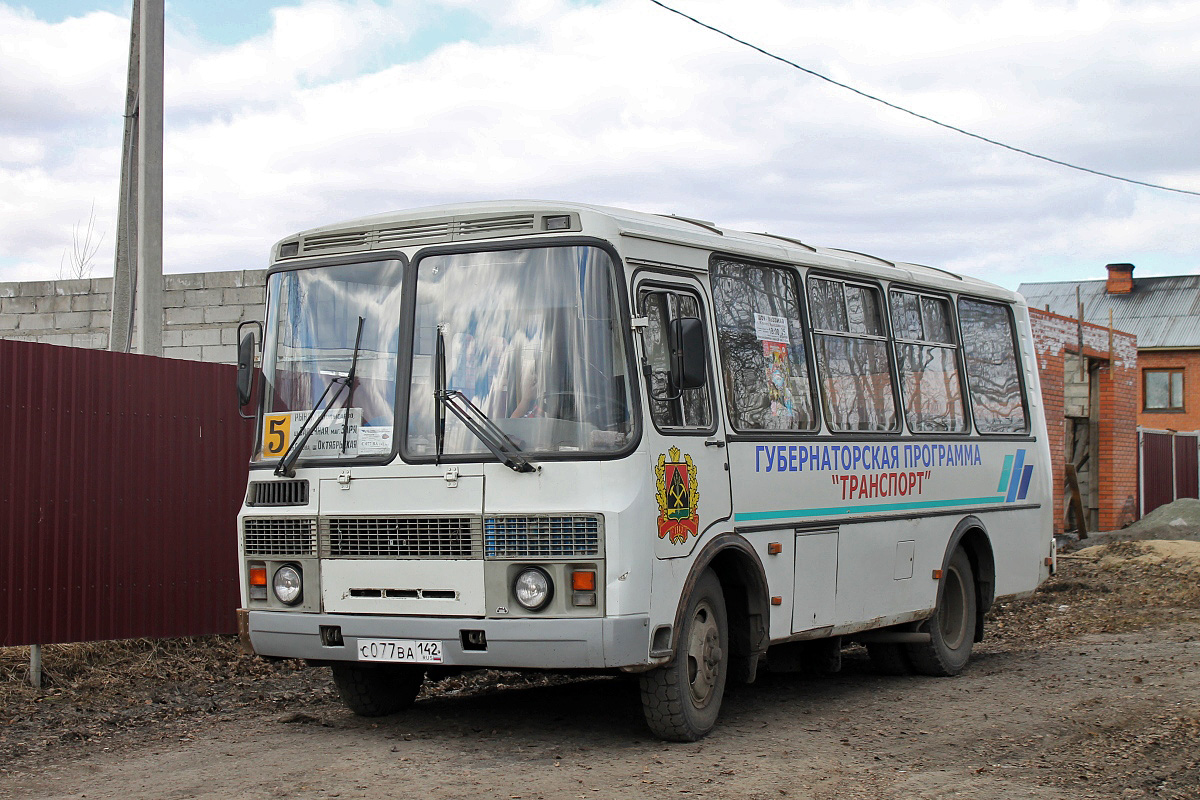
[[[305,459],[391,453],[402,272],[386,260],[270,276],[256,459],[278,458],[293,443]],[[296,441],[306,421],[318,420]]]

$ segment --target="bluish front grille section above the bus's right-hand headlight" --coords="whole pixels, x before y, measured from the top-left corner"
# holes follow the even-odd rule
[[[600,554],[595,515],[504,515],[484,519],[484,555],[490,559],[586,558]]]

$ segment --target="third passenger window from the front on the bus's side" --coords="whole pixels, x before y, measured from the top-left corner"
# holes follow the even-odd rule
[[[890,299],[908,429],[913,433],[966,431],[949,301],[899,289],[890,291]]]

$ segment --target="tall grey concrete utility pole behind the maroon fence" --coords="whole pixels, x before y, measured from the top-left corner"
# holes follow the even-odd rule
[[[134,65],[134,55],[137,64]],[[126,149],[121,169],[116,261],[113,272],[113,317],[109,349],[126,350],[132,307],[133,349],[162,355],[162,139],[163,139],[163,0],[134,0],[130,34],[130,84],[126,92]],[[128,95],[133,94],[132,108]],[[132,122],[132,125],[131,125]],[[136,142],[136,148],[133,146]],[[133,164],[137,164],[134,168]],[[132,184],[132,187],[130,186]],[[131,191],[132,188],[132,191]],[[137,222],[128,234],[131,198]],[[137,252],[130,275],[131,242]],[[124,245],[124,247],[122,247]],[[134,291],[131,293],[131,288]],[[121,323],[125,323],[124,326]]]

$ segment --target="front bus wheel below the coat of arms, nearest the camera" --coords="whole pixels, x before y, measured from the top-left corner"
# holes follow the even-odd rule
[[[674,660],[641,676],[642,712],[654,735],[696,741],[716,724],[730,672],[730,632],[721,582],[701,575],[688,599]]]

